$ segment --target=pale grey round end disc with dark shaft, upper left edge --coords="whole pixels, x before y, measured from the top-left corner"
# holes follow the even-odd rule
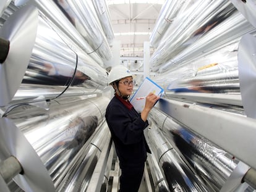
[[[5,106],[6,104],[8,104],[13,98],[15,92],[19,89],[23,75],[29,63],[30,53],[33,49],[33,44],[35,43],[37,25],[37,20],[35,20],[36,12],[31,11],[29,14],[26,10],[24,10],[23,12],[18,11],[18,14],[19,15],[17,15],[16,18],[9,18],[8,22],[5,23],[4,27],[0,29],[1,38],[10,42],[10,49],[7,52],[6,60],[1,64],[0,78],[1,89],[3,91],[1,91],[0,106]],[[17,17],[19,17],[19,20],[17,19]],[[26,38],[24,38],[23,36],[19,38],[20,34],[24,33],[24,31],[28,31],[27,25],[22,25],[23,22],[30,23],[30,35],[26,36]],[[16,25],[19,26],[19,28],[12,27],[14,29],[10,31],[9,28],[11,28],[11,26],[9,27],[9,25]],[[4,28],[7,29],[4,31]],[[15,36],[15,34],[17,34],[17,36]],[[25,49],[23,48],[24,45],[26,45]],[[19,70],[17,70],[16,66],[19,66]]]

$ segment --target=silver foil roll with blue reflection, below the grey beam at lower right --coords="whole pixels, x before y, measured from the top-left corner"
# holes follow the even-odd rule
[[[173,147],[183,154],[189,164],[199,173],[199,177],[214,191],[220,191],[236,168],[238,161],[234,160],[228,152],[161,111],[154,109],[150,115]],[[157,121],[158,118],[164,121]]]

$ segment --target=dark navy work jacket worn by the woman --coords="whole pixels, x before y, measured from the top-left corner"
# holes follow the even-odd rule
[[[148,126],[134,107],[129,109],[114,96],[106,109],[106,122],[121,165],[141,164],[150,152],[143,130]]]

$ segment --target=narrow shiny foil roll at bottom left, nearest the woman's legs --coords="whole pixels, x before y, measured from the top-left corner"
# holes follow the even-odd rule
[[[93,170],[99,160],[101,151],[106,144],[109,144],[111,135],[108,130],[108,125],[105,124],[98,129],[95,137],[89,146],[83,148],[77,153],[73,161],[70,162],[72,167],[69,172],[66,172],[65,177],[60,180],[56,191],[87,191],[90,179],[92,178]],[[90,190],[88,190],[90,191]]]

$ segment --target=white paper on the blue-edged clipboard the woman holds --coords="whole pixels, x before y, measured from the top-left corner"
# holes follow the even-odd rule
[[[150,92],[154,93],[156,95],[162,96],[164,93],[164,90],[163,90],[163,88],[161,88],[161,86],[157,85],[150,78],[146,77],[143,80],[142,84],[139,86],[138,90],[134,93],[132,98],[130,98],[130,103],[132,104],[132,106],[134,106],[134,109],[137,112],[142,112],[142,110],[145,106],[146,99],[137,100],[136,98],[145,97]]]

